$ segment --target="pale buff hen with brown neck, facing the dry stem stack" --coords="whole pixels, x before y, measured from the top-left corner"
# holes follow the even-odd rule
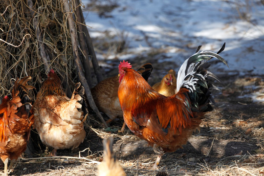
[[[57,149],[77,148],[86,135],[82,100],[84,88],[80,83],[75,85],[71,98],[62,89],[61,80],[53,69],[48,73],[37,94],[33,105],[34,126],[42,142],[53,148],[51,155],[56,155]]]

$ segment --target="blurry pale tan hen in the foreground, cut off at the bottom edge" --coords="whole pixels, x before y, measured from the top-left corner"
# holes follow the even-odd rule
[[[113,137],[103,140],[104,161],[98,166],[98,176],[126,176],[113,153]]]

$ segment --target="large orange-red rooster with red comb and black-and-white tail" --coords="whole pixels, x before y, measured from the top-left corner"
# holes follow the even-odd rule
[[[212,110],[210,90],[216,87],[208,77],[217,77],[207,70],[211,57],[227,65],[216,53],[195,53],[180,67],[172,96],[156,92],[130,63],[120,62],[118,97],[124,121],[136,136],[153,147],[157,154],[154,169],[165,152],[174,152],[187,143],[203,115]]]

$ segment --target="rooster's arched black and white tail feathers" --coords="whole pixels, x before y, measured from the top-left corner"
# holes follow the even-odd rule
[[[224,46],[225,44],[223,44],[218,53],[223,51]],[[199,49],[200,47],[198,47],[197,51]],[[180,88],[187,88],[189,90],[188,96],[190,102],[192,102],[192,111],[194,112],[206,112],[213,109],[209,102],[214,103],[215,101],[211,96],[210,90],[217,88],[208,80],[208,77],[220,81],[216,75],[207,70],[210,67],[207,61],[213,57],[227,65],[220,55],[211,51],[201,51],[187,59],[178,71],[176,92]]]

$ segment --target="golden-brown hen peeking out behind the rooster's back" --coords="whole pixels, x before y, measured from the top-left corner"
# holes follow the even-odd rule
[[[174,70],[168,71],[168,74],[166,74],[161,82],[154,84],[152,87],[155,91],[158,93],[165,95],[165,96],[171,96],[175,94],[176,90],[176,72]]]

